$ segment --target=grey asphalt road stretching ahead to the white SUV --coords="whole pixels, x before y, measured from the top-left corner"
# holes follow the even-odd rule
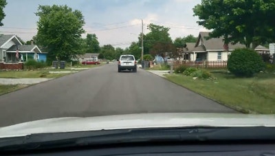
[[[115,63],[0,96],[0,126],[58,117],[235,111],[155,74],[118,73]]]

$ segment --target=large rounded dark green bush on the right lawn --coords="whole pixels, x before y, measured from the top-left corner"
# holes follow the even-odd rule
[[[228,59],[228,70],[235,76],[251,77],[263,69],[262,57],[252,49],[235,49]]]

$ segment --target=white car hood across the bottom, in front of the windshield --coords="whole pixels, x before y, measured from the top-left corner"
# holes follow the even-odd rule
[[[0,137],[15,137],[36,133],[187,126],[273,127],[275,126],[275,115],[248,115],[235,113],[139,113],[89,118],[51,118],[1,127]]]

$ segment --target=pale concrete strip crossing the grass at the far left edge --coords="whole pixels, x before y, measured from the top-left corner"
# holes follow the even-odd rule
[[[0,85],[33,85],[47,80],[52,80],[52,78],[0,78]]]

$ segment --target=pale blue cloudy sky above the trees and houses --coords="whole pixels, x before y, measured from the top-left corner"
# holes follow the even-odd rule
[[[189,34],[198,36],[207,31],[197,24],[192,8],[199,0],[6,0],[6,14],[1,34],[16,34],[23,41],[30,41],[36,35],[37,12],[39,5],[68,5],[80,10],[85,18],[85,34],[96,34],[100,45],[111,44],[114,47],[129,47],[138,41],[142,32],[148,33],[150,23],[170,27],[170,36],[174,40]]]

